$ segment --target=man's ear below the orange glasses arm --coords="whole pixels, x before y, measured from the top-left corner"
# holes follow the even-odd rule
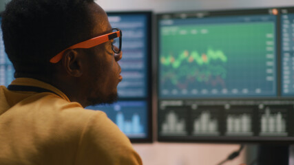
[[[83,74],[81,54],[76,50],[66,50],[61,59],[63,68],[73,77],[81,77]]]

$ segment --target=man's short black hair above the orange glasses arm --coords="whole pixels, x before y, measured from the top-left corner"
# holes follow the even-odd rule
[[[91,38],[94,0],[12,0],[2,14],[6,54],[16,73],[49,74],[50,58]],[[18,76],[19,75],[19,76]]]

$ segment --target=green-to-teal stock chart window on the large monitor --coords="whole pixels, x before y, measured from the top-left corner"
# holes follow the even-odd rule
[[[273,23],[160,28],[160,97],[275,95]]]

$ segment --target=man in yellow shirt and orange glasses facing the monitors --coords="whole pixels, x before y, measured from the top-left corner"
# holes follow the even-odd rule
[[[94,0],[12,0],[1,28],[16,79],[0,87],[0,164],[142,164],[105,113],[84,109],[114,102],[122,80],[122,33]]]

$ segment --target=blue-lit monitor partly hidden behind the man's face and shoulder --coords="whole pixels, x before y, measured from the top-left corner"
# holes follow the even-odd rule
[[[101,110],[132,142],[151,142],[151,12],[107,12],[112,28],[123,32],[123,81],[118,102],[86,107]]]

